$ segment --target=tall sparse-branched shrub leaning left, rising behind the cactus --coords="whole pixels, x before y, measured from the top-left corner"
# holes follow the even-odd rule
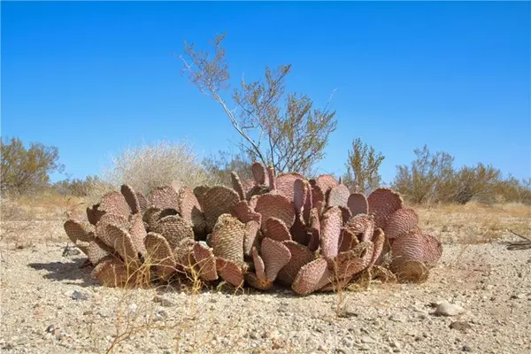
[[[329,107],[332,96],[319,109],[309,96],[286,92],[291,65],[279,65],[273,70],[266,67],[262,80],[242,79],[231,103],[223,97],[230,79],[224,39],[225,35],[216,35],[210,53],[185,42],[181,59],[189,81],[221,106],[242,138],[242,154],[273,165],[277,173],[308,174],[325,157],[329,135],[337,126],[335,111]]]

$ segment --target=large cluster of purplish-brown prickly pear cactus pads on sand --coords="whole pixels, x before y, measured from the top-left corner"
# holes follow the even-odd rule
[[[105,286],[140,286],[188,277],[298,295],[352,281],[425,281],[442,245],[392,189],[369,196],[331,175],[275,175],[255,162],[253,179],[232,173],[225,186],[173,189],[149,196],[123,185],[68,219],[65,232]]]

